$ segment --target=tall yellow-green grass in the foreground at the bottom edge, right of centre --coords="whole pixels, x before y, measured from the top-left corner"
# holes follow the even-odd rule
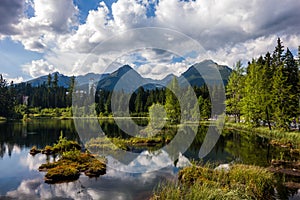
[[[151,199],[270,199],[274,185],[273,174],[256,166],[224,171],[193,165],[179,172],[177,183],[159,186]]]

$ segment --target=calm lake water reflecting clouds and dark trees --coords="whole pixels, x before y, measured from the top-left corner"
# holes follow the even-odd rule
[[[124,121],[126,123],[126,121]],[[139,121],[141,125],[147,122]],[[112,137],[128,137],[112,120],[102,120],[103,132]],[[170,155],[161,151],[158,157],[151,152],[135,150],[135,158],[125,168],[108,165],[105,175],[88,178],[81,175],[77,181],[49,185],[44,183],[44,173],[38,167],[46,162],[46,156],[31,156],[32,146],[43,148],[57,142],[60,133],[68,139],[81,141],[73,120],[43,119],[24,122],[0,123],[0,199],[148,199],[157,185],[165,180],[176,180],[179,163],[187,159],[199,161],[199,149],[207,133],[200,126],[192,144],[173,162]],[[176,130],[174,130],[176,131]],[[204,162],[245,163],[269,166],[272,158],[280,158],[282,149],[268,145],[268,140],[254,134],[223,130],[217,144],[201,159]],[[107,155],[106,155],[107,156]],[[157,155],[156,155],[157,156]],[[108,156],[109,157],[109,156]],[[115,157],[115,156],[114,156]],[[159,158],[159,159],[157,159]],[[109,159],[110,160],[110,159]],[[113,159],[112,159],[113,160]],[[162,168],[163,166],[163,168]],[[142,168],[141,168],[142,167]],[[156,168],[158,170],[154,170]],[[134,168],[141,173],[133,173]],[[152,170],[145,170],[152,169]],[[128,172],[125,172],[128,171]],[[278,199],[297,199],[297,191],[278,188]]]

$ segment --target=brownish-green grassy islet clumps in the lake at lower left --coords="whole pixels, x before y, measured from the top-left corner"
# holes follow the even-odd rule
[[[95,157],[89,152],[81,152],[80,145],[75,141],[69,141],[62,135],[57,144],[46,146],[43,150],[35,146],[31,148],[31,155],[42,152],[46,155],[60,155],[59,160],[47,162],[39,167],[39,171],[45,174],[46,183],[60,183],[77,180],[81,172],[89,177],[99,177],[106,173],[106,159]]]

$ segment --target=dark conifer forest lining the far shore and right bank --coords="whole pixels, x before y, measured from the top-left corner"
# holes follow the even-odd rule
[[[244,122],[251,126],[268,126],[270,129],[288,130],[299,122],[299,88],[300,88],[300,59],[295,58],[289,48],[283,46],[280,38],[277,40],[275,50],[259,58],[253,58],[247,66],[238,61],[226,85],[226,114],[234,118],[235,122]],[[74,91],[75,77],[71,78],[68,88],[58,86],[57,74],[52,78],[48,75],[47,82],[32,87],[28,83],[13,84],[0,76],[0,116],[6,118],[22,118],[24,113],[40,112],[42,109],[70,108],[72,95],[80,95],[81,105],[74,109],[85,112],[86,106],[93,102],[97,116],[111,116],[111,97],[113,92],[108,90],[88,91],[78,93]],[[218,87],[218,86],[214,86]],[[182,91],[179,99],[171,92]],[[148,116],[149,108],[153,104],[164,105],[170,121],[179,122],[181,116],[180,101],[189,101],[188,88],[180,88],[174,78],[168,88],[145,90],[140,87],[133,94],[124,91],[115,91],[118,105],[125,99],[129,101],[131,116]],[[211,100],[215,94],[209,93],[208,86],[193,86],[197,97],[201,119],[211,116]],[[24,102],[24,97],[28,97]],[[34,108],[34,109],[33,109]],[[194,112],[196,108],[187,107]],[[34,110],[34,111],[33,111]],[[185,112],[185,111],[183,111]],[[195,111],[196,112],[196,111]],[[184,114],[184,113],[183,113]],[[71,114],[70,116],[71,117]]]

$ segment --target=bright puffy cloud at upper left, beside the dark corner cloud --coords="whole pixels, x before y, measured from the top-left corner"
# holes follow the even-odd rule
[[[59,36],[72,32],[77,24],[77,7],[72,0],[34,0],[34,16],[23,17],[14,28],[12,39],[21,41],[25,49],[43,52],[59,42]]]

